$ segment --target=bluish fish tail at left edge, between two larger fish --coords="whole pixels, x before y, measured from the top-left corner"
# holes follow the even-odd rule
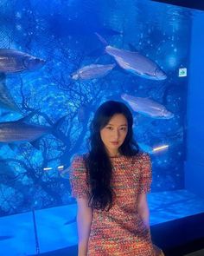
[[[11,111],[21,113],[20,108],[17,107],[10,91],[6,88],[6,75],[0,74],[0,108],[9,109]]]

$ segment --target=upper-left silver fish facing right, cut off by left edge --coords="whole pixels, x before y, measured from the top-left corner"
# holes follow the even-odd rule
[[[40,69],[45,61],[15,49],[0,49],[0,72],[16,73]]]

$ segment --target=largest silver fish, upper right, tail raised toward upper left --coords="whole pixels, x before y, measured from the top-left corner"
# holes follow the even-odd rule
[[[112,56],[122,69],[150,80],[165,80],[167,78],[163,69],[150,58],[139,52],[112,47],[102,36],[98,33],[95,34],[105,45],[105,53]]]

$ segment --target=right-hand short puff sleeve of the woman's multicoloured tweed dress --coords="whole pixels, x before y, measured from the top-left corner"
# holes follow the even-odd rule
[[[140,194],[150,193],[150,185],[152,181],[152,168],[149,154],[141,156],[141,175],[140,175]]]

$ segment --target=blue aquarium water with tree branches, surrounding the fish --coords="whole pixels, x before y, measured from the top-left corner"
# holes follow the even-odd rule
[[[10,92],[21,113],[0,108],[0,121],[17,121],[35,113],[29,123],[54,128],[54,133],[41,137],[38,149],[29,141],[17,143],[16,147],[1,143],[2,217],[30,213],[32,209],[73,206],[68,182],[70,161],[74,154],[87,150],[94,111],[106,100],[124,102],[124,93],[152,99],[174,114],[171,119],[158,119],[137,113],[129,105],[135,138],[143,150],[168,145],[151,154],[152,193],[162,195],[184,188],[193,16],[191,10],[148,0],[0,2],[0,48],[17,49],[46,60],[41,69],[6,75],[4,89]],[[150,58],[163,69],[167,79],[146,79],[119,67],[112,56],[105,54],[95,32],[113,47]],[[82,81],[71,77],[86,65],[110,63],[116,63],[116,69],[102,77]],[[187,69],[187,76],[179,76],[180,69]],[[153,205],[156,200],[157,196],[151,199]],[[152,216],[155,221],[163,220],[163,214],[161,219],[156,212]]]

